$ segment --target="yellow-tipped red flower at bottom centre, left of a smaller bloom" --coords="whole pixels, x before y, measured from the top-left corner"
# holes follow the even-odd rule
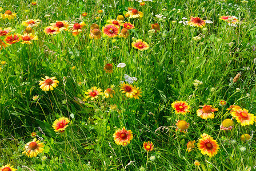
[[[127,144],[130,144],[131,140],[133,140],[133,133],[131,130],[126,131],[125,127],[123,127],[123,129],[115,131],[113,137],[115,144],[126,146]]]

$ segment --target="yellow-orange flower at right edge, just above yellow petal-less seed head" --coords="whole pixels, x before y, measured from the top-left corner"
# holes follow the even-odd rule
[[[249,113],[246,109],[233,109],[231,115],[235,117],[238,123],[242,126],[252,125],[254,123],[254,115]]]

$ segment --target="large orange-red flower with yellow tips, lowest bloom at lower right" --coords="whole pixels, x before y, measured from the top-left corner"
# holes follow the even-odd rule
[[[213,157],[218,153],[219,145],[211,136],[205,136],[198,141],[198,148],[203,155]]]

